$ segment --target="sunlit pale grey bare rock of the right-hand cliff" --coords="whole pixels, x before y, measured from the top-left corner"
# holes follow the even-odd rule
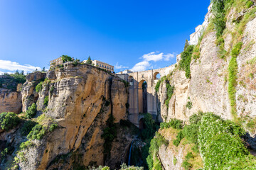
[[[255,120],[256,115],[256,11],[252,7],[242,11],[234,7],[227,14],[227,28],[223,33],[225,58],[220,57],[221,47],[217,45],[219,39],[215,31],[207,32],[206,30],[199,47],[200,57],[191,60],[191,78],[187,79],[185,72],[179,69],[175,69],[167,76],[169,84],[175,86],[168,107],[164,104],[167,98],[166,81],[161,83],[158,96],[159,102],[161,102],[161,118],[164,121],[169,122],[169,120],[177,118],[188,123],[188,118],[193,113],[203,111],[205,113],[213,112],[224,119],[235,119],[245,129],[252,128],[252,126],[255,128],[255,122],[249,125],[250,121]],[[242,24],[244,24],[243,27],[241,27]],[[235,67],[237,75],[235,76],[234,115],[230,103],[231,75],[229,70],[232,53],[238,42],[242,43],[242,47],[236,56],[238,65]],[[188,103],[191,103],[191,107],[188,107]],[[255,136],[255,130],[248,130],[248,132],[252,137]],[[165,138],[173,142],[176,137],[171,136],[170,134],[165,135]],[[179,147],[162,145],[158,153],[161,166],[164,169],[183,169],[181,164],[184,154],[188,152],[186,149],[188,149],[186,145]]]

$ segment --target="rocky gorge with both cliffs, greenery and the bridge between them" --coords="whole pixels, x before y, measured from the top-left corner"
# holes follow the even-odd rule
[[[255,6],[212,1],[169,67],[1,76],[1,169],[256,169]]]

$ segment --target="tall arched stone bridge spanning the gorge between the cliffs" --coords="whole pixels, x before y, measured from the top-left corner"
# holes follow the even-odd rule
[[[155,93],[155,86],[159,78],[166,76],[172,72],[175,65],[161,69],[151,69],[144,72],[132,72],[128,74],[117,74],[118,77],[129,82],[129,120],[139,127],[139,123],[143,116],[139,113],[151,113],[153,118],[156,118],[160,112],[157,103],[157,96]],[[142,88],[146,81],[146,88]],[[146,90],[145,90],[146,89]]]

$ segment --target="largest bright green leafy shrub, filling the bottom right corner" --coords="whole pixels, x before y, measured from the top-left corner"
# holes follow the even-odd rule
[[[250,155],[240,137],[245,130],[230,120],[213,113],[201,119],[198,142],[205,169],[256,169],[255,157]]]

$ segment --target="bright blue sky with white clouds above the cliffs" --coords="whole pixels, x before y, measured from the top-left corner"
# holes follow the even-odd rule
[[[69,55],[124,69],[176,62],[207,1],[1,0],[0,73],[49,67]]]

